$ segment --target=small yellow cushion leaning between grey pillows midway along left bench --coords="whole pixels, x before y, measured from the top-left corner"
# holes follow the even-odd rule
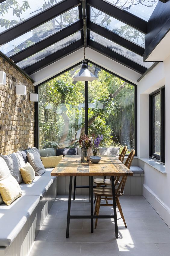
[[[29,162],[22,168],[20,168],[20,173],[24,183],[31,184],[33,179],[35,179],[35,171]]]

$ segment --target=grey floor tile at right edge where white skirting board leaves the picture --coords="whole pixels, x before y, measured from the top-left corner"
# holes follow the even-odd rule
[[[170,233],[170,228],[165,224],[165,222],[160,220],[143,220],[144,224],[146,225],[146,228],[148,230],[166,230]],[[170,242],[170,241],[169,241]]]

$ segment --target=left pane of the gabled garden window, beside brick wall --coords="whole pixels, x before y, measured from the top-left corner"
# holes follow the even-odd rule
[[[72,77],[80,67],[39,86],[40,149],[74,147],[79,140],[84,127],[84,82],[72,84]]]

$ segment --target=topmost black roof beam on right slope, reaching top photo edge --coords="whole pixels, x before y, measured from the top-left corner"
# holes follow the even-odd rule
[[[128,24],[129,26],[139,30],[140,32],[146,34],[147,21],[144,21],[137,16],[122,10],[104,0],[87,0],[87,4],[95,7],[96,9],[105,12],[106,14]]]

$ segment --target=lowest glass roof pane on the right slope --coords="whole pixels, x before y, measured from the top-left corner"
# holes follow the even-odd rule
[[[143,67],[149,68],[152,66],[153,62],[144,62],[143,61],[143,57],[124,48],[123,46],[116,44],[112,41],[110,41],[109,39],[102,37],[99,34],[94,33],[93,31],[90,31],[90,39],[102,44],[103,46],[111,49],[112,51],[115,51],[116,53],[130,59],[131,61],[134,61],[140,65],[142,65]]]

